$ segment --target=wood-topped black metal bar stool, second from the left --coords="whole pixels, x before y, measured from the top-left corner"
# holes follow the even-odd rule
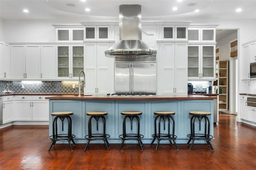
[[[86,115],[91,116],[89,121],[88,121],[88,135],[84,136],[87,140],[88,143],[86,144],[84,151],[86,151],[86,148],[88,147],[89,143],[91,140],[103,140],[107,150],[108,149],[108,140],[107,138],[110,137],[109,134],[106,134],[106,119],[104,117],[104,115],[108,115],[108,112],[99,112],[99,111],[92,111],[92,112],[87,112]],[[92,118],[94,118],[96,120],[96,126],[97,126],[97,131],[98,131],[98,121],[101,118],[103,121],[103,133],[96,133],[96,134],[92,134]]]

